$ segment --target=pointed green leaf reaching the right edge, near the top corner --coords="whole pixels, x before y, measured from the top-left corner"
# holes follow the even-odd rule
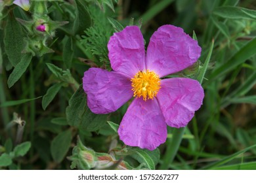
[[[213,11],[213,14],[223,18],[230,19],[251,19],[255,20],[256,10],[250,10],[242,7],[219,7]]]

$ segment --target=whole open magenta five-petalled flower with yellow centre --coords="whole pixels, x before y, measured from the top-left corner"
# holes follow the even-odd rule
[[[119,138],[129,146],[154,150],[167,138],[167,125],[184,127],[202,105],[203,88],[190,78],[165,78],[200,57],[198,42],[180,27],[161,26],[147,52],[137,26],[114,33],[108,42],[114,71],[91,68],[84,73],[87,105],[96,114],[114,112],[135,97],[121,120]]]

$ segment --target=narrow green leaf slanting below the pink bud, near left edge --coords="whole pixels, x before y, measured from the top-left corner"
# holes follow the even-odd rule
[[[25,73],[28,65],[30,65],[31,60],[32,54],[24,54],[22,56],[21,61],[14,67],[11,75],[8,78],[7,84],[9,88],[11,88],[15,84],[15,82],[20,79],[23,73]]]

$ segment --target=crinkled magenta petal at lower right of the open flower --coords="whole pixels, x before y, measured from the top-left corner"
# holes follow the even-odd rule
[[[203,88],[197,80],[190,78],[169,78],[161,80],[157,98],[171,127],[184,127],[194,116],[203,102]]]

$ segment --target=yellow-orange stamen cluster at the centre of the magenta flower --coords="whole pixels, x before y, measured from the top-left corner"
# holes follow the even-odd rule
[[[153,99],[158,94],[160,86],[159,75],[154,71],[142,72],[139,71],[134,78],[131,79],[131,86],[133,87],[133,97],[143,97],[143,100]]]

